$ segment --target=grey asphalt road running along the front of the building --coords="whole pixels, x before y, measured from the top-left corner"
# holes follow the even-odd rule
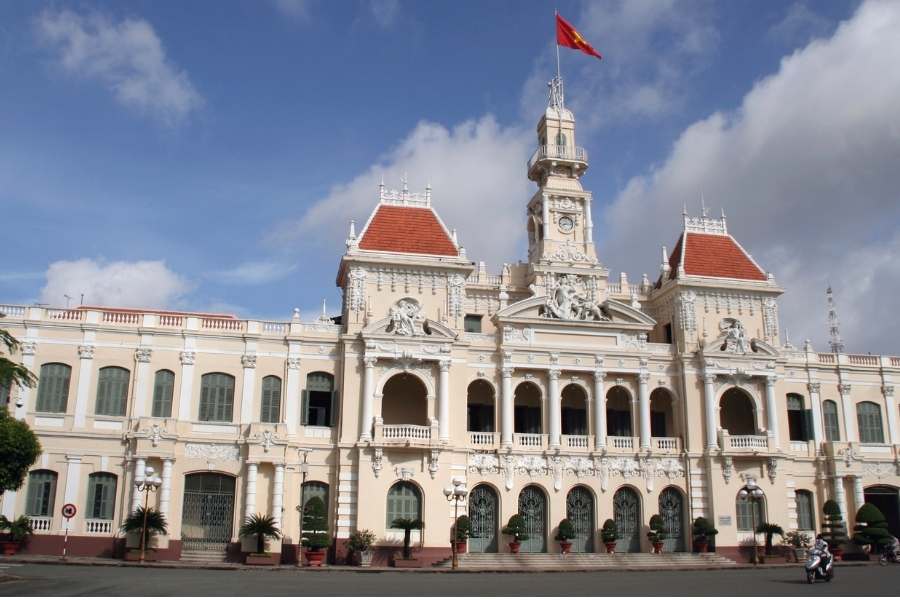
[[[900,566],[838,568],[809,585],[800,567],[595,573],[213,571],[68,565],[0,569],[0,596],[894,596]]]

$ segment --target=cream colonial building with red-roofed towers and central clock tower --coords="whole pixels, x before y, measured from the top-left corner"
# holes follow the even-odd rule
[[[404,183],[351,224],[339,317],[0,306],[39,375],[6,391],[44,448],[2,498],[31,518],[30,550],[58,552],[68,526],[71,553],[115,552],[146,466],[162,477],[149,498],[169,521],[167,558],[236,556],[243,518],[268,513],[290,560],[313,496],[337,548],[357,529],[396,546],[393,520],[419,517],[422,556],[446,556],[453,477],[471,492],[471,552],[508,552],[515,513],[523,552],[557,551],[564,517],[577,551],[600,551],[608,518],[618,551],[647,551],[655,513],[669,550],[691,549],[702,515],[729,552],[753,522],[818,530],[829,498],[851,525],[876,503],[898,533],[900,358],[786,343],[783,290],[724,216],[685,215],[654,281],[610,279],[560,85],[526,169],[528,260],[498,274],[469,259],[430,189]],[[752,506],[739,496],[751,478],[765,494]],[[64,503],[78,507],[68,524]]]

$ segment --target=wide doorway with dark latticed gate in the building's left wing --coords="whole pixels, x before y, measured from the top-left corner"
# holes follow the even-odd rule
[[[181,547],[224,552],[231,541],[234,477],[221,473],[184,476]]]

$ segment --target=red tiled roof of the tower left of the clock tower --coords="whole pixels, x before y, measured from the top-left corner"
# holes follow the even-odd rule
[[[381,204],[359,241],[362,250],[457,256],[459,252],[430,208]]]

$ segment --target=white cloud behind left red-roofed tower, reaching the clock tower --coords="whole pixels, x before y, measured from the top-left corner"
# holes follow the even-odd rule
[[[448,129],[421,122],[400,144],[352,180],[334,186],[297,222],[271,236],[281,246],[311,234],[336,245],[346,238],[347,223],[362,227],[378,203],[382,176],[388,187],[399,187],[410,174],[410,189],[430,181],[435,209],[449,228],[457,228],[460,243],[473,260],[499,266],[524,258],[525,204],[534,188],[525,174],[533,147],[532,134],[499,125],[492,116]],[[510,220],[510,217],[513,217]],[[498,229],[497,224],[505,225]]]

